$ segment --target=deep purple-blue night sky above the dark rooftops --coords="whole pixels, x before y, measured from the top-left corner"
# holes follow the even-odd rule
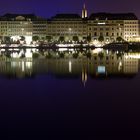
[[[140,18],[140,0],[2,0],[0,15],[5,13],[35,13],[51,17],[56,13],[79,13],[86,3],[92,12],[134,12]]]

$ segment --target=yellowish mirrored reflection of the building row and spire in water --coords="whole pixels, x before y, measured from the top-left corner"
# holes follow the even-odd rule
[[[80,78],[84,86],[90,78],[135,76],[139,70],[139,58],[135,53],[93,51],[91,59],[86,57],[38,59],[25,61],[0,61],[0,75],[7,78],[32,78],[35,75],[53,75],[56,78]]]

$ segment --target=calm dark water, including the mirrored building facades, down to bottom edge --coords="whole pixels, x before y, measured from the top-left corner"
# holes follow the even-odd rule
[[[2,61],[0,75],[2,140],[139,139],[138,59]]]

